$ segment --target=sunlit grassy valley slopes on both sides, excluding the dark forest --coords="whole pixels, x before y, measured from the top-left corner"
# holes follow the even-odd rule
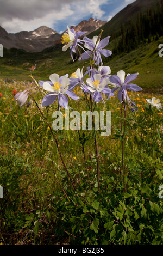
[[[127,73],[139,72],[137,84],[150,92],[161,93],[163,88],[163,57],[159,57],[159,44],[163,42],[163,37],[153,40],[151,43],[141,44],[129,53],[121,53],[111,57],[103,58],[104,65],[109,65],[112,72],[123,69]],[[108,48],[112,51],[114,40],[110,41]],[[85,61],[86,62],[86,61]],[[56,72],[59,75],[70,74],[82,68],[82,62],[76,60],[73,63],[70,51],[62,52],[60,45],[49,48],[41,53],[27,53],[22,50],[4,50],[4,57],[0,59],[1,78],[16,80],[30,80],[29,69],[36,63],[33,72],[37,80],[48,80],[49,75]]]

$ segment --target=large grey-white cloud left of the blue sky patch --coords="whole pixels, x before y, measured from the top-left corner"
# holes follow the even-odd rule
[[[63,0],[28,0],[26,3],[23,2],[24,0],[6,0],[3,2],[0,10],[0,23],[8,32],[32,31],[40,26],[52,28],[55,22],[73,15],[70,4],[64,3]],[[57,2],[60,2],[60,5],[57,5]],[[74,2],[74,0],[70,2]]]

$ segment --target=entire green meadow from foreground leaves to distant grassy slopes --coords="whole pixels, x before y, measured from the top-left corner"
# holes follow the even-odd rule
[[[110,40],[109,50],[114,43]],[[111,112],[110,136],[101,136],[101,130],[54,132],[57,103],[41,107],[46,95],[42,88],[34,89],[21,108],[14,101],[14,90],[22,92],[32,82],[30,74],[38,82],[49,80],[52,73],[71,75],[82,68],[82,63],[72,62],[70,51],[62,52],[60,45],[40,53],[4,49],[1,245],[163,245],[163,113],[146,101],[156,97],[163,102],[161,43],[163,37],[103,58],[111,75],[119,70],[139,72],[134,82],[142,87],[141,92],[128,92],[137,111],[127,106],[126,116],[116,93],[108,101],[104,97],[106,107],[102,101],[96,104],[96,111]],[[82,90],[76,87],[74,92],[80,99],[69,99],[69,106],[80,113],[88,111]]]

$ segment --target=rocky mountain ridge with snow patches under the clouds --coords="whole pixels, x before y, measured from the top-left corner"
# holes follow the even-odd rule
[[[87,31],[87,34],[95,31],[106,23],[90,18],[88,21],[82,21],[76,26],[71,26],[74,31]],[[64,32],[63,32],[64,33]],[[63,34],[62,33],[62,34]],[[54,31],[52,28],[41,26],[34,31],[21,31],[18,33],[8,33],[0,26],[0,43],[4,48],[23,49],[27,52],[40,52],[45,48],[54,46],[61,42],[62,34]]]

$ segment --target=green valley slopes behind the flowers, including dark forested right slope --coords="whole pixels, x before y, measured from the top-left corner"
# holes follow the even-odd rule
[[[162,93],[163,88],[163,57],[158,55],[158,46],[163,43],[162,14],[163,0],[160,1],[160,5],[158,0],[137,0],[127,5],[102,27],[102,38],[110,35],[111,29],[115,28],[115,33],[106,46],[112,51],[112,55],[108,58],[103,57],[104,65],[109,65],[112,70],[111,74],[114,75],[121,69],[127,73],[139,72],[137,84],[145,91],[154,93]],[[89,37],[92,38],[100,32],[101,29],[98,29]],[[3,55],[4,57],[0,58],[0,78],[10,80],[30,80],[31,67],[35,64],[33,75],[36,80],[48,80],[49,75],[54,72],[59,75],[71,75],[83,66],[78,60],[72,61],[70,49],[62,52],[61,44],[42,52],[4,49]]]

